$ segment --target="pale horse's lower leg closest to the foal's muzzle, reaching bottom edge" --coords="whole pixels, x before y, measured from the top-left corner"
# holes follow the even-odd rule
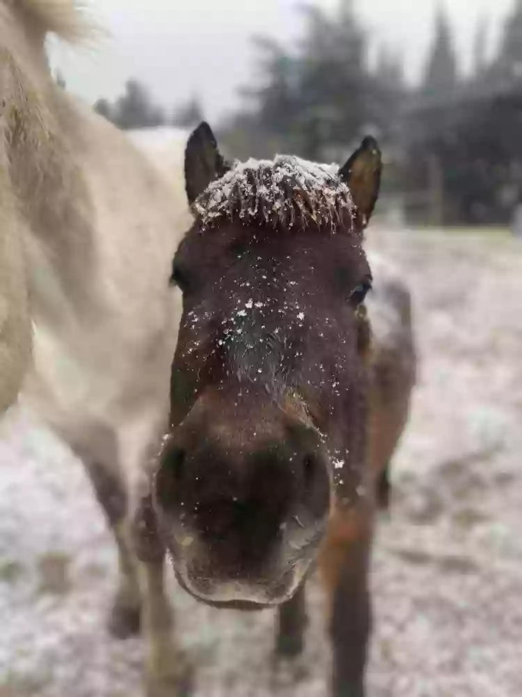
[[[148,641],[147,697],[188,697],[192,667],[177,642],[174,614],[164,586],[165,551],[147,498],[140,505],[135,530],[143,589],[143,630]]]

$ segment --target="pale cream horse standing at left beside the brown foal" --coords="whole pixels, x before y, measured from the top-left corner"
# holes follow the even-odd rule
[[[111,629],[136,631],[143,598],[148,690],[172,696],[185,666],[162,568],[136,562],[127,510],[168,418],[186,137],[129,138],[68,95],[49,31],[77,40],[90,27],[74,0],[0,0],[0,410],[24,381],[20,401],[84,462],[118,542]]]

